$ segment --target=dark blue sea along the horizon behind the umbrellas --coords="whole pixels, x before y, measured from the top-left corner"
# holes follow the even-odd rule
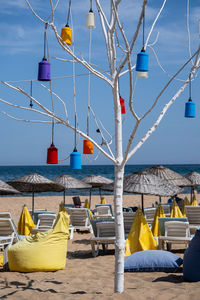
[[[125,175],[133,172],[140,171],[142,169],[148,168],[152,165],[126,165]],[[164,165],[165,167],[185,175],[189,172],[200,173],[200,164],[179,164],[179,165]],[[9,180],[15,179],[17,177],[24,176],[30,173],[38,173],[49,179],[61,174],[68,174],[77,179],[82,179],[88,175],[101,175],[110,179],[114,179],[114,166],[113,165],[83,165],[80,170],[71,170],[70,166],[60,166],[60,165],[45,165],[45,166],[0,166],[0,179],[7,182]],[[88,190],[67,190],[67,195],[88,195]],[[110,194],[110,192],[103,191],[103,194]],[[183,193],[190,193],[190,188],[184,188]],[[98,189],[93,189],[92,194],[99,194]],[[23,194],[26,196],[27,194]],[[23,196],[22,195],[22,196]],[[39,195],[39,194],[35,194]],[[40,193],[40,195],[60,195],[55,192]]]

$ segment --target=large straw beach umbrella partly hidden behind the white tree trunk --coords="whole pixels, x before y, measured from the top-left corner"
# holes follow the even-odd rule
[[[105,185],[102,189],[113,191],[114,184]],[[158,176],[140,171],[124,177],[123,191],[141,194],[142,210],[144,210],[144,195],[174,196],[182,190]]]

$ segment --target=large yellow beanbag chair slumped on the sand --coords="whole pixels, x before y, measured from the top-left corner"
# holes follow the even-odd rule
[[[65,268],[69,217],[59,212],[54,228],[28,236],[8,250],[10,271],[46,272]]]

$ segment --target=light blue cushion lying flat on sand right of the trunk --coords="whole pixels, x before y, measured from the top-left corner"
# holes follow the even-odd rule
[[[125,259],[125,272],[173,272],[183,263],[182,258],[169,251],[145,250]]]

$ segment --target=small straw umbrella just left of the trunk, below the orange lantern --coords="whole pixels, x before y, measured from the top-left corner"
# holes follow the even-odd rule
[[[99,188],[99,195],[101,197],[101,187],[105,184],[113,183],[112,179],[109,179],[100,175],[88,175],[81,179],[83,182],[91,184],[92,188]],[[91,204],[91,193],[92,189],[90,189],[90,204]]]

